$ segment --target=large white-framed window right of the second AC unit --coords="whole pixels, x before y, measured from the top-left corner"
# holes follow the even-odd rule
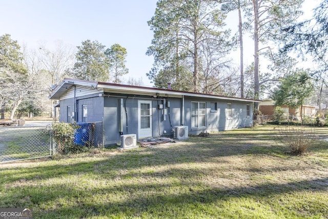
[[[205,102],[191,102],[191,127],[206,127]]]

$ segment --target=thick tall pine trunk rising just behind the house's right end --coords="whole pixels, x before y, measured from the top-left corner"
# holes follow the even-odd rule
[[[258,0],[253,0],[254,7],[254,98],[259,98],[259,80],[258,80],[258,71],[259,71],[259,52],[258,52],[258,44],[259,44],[259,24],[258,24]],[[258,103],[254,103],[255,110],[258,110]]]

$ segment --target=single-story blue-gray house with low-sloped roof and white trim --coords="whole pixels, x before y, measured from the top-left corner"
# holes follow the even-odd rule
[[[65,78],[50,94],[60,122],[104,120],[105,145],[137,139],[224,131],[253,125],[255,99]]]

